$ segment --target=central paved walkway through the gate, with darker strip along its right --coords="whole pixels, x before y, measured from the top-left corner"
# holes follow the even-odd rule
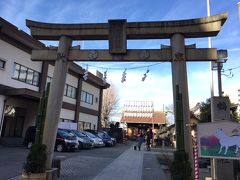
[[[93,180],[167,180],[156,154],[133,146],[110,163]]]

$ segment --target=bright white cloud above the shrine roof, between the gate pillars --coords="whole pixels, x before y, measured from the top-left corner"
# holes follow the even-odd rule
[[[141,81],[142,73],[127,72],[127,78],[121,83],[121,73],[112,72],[108,81],[119,90],[121,105],[127,100],[154,101],[155,110],[162,110],[163,104],[172,104],[171,76],[156,76],[149,73],[146,80]]]

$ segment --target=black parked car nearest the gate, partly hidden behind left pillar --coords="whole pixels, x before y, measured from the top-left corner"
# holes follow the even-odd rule
[[[31,148],[32,144],[35,141],[36,136],[36,126],[30,126],[24,137],[24,145],[27,148]],[[62,152],[64,150],[75,150],[78,149],[78,140],[75,136],[63,131],[58,130],[55,142],[55,150],[58,152]]]

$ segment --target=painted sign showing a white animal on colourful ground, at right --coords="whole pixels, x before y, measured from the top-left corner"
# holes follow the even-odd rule
[[[197,125],[200,157],[240,159],[240,124],[230,121]]]

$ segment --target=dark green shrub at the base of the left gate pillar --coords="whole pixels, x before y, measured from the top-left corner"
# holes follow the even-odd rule
[[[34,144],[32,145],[26,163],[24,164],[24,172],[30,173],[44,173],[46,171],[46,145]]]

